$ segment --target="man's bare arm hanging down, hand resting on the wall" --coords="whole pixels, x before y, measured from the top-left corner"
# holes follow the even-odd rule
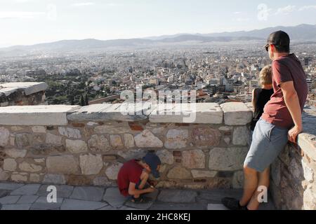
[[[303,131],[300,102],[293,81],[280,83],[280,87],[283,92],[285,104],[291,113],[295,125],[294,128],[289,131],[289,141],[296,143],[296,137]]]

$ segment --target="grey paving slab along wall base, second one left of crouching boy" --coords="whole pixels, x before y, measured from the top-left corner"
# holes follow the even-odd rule
[[[77,200],[86,200],[100,202],[103,198],[105,188],[100,187],[75,187],[70,198]]]

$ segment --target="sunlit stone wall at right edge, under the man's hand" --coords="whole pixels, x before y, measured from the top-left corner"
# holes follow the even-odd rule
[[[316,209],[316,111],[305,109],[304,133],[272,165],[271,192],[278,209]]]

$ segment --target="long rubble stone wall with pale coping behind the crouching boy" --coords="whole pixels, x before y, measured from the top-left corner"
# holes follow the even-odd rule
[[[180,123],[182,114],[123,116],[119,106],[1,108],[0,179],[114,186],[126,160],[156,151],[160,187],[241,187],[252,118],[245,104],[197,104],[194,123]]]

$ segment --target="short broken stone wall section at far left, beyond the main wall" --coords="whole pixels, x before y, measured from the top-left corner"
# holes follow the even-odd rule
[[[46,104],[46,83],[0,83],[0,106]]]

